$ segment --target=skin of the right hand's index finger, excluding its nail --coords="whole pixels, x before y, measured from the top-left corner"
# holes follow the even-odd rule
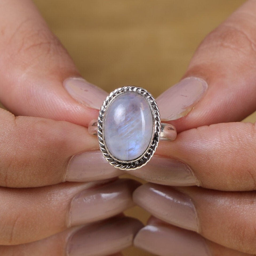
[[[185,131],[177,141],[163,142],[158,153],[186,163],[184,168],[196,177],[194,185],[228,191],[254,190],[255,139],[255,124],[222,123]]]

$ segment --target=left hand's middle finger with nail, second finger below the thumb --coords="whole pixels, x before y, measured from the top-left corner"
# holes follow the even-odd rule
[[[133,206],[138,182],[61,183],[30,189],[0,189],[0,244],[43,239],[67,227],[106,219]],[[29,210],[28,210],[29,209]]]

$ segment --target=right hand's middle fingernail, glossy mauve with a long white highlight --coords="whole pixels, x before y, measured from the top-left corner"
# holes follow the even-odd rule
[[[133,193],[134,202],[153,216],[198,232],[198,218],[190,197],[171,187],[147,183]]]

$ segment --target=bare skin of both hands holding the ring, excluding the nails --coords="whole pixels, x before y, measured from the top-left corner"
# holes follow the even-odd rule
[[[63,81],[79,76],[78,71],[31,1],[2,0],[0,10],[0,100],[11,112],[0,113],[4,121],[0,130],[0,193],[4,201],[0,250],[3,255],[30,255],[35,250],[40,256],[50,255],[40,251],[48,248],[54,255],[63,255],[66,234],[71,232],[65,219],[67,201],[85,184],[57,183],[63,181],[73,154],[95,149],[96,142],[84,127],[97,117],[98,110],[78,103],[64,89]],[[256,109],[255,12],[256,1],[248,1],[199,46],[184,77],[203,78],[209,89],[186,117],[171,122],[180,132],[177,140],[171,145],[162,143],[157,151],[193,168],[201,188],[176,189],[193,199],[198,233],[207,239],[213,256],[256,253],[251,214],[255,193],[250,192],[255,189],[255,170],[250,164],[255,162],[255,125],[231,123]],[[46,140],[49,136],[52,142]],[[204,144],[206,140],[210,144]],[[231,149],[242,151],[235,155]],[[217,158],[214,152],[219,152]],[[225,168],[220,168],[223,163]],[[211,171],[206,175],[208,166]],[[223,198],[227,198],[226,204]],[[249,203],[245,206],[244,202]],[[237,211],[231,211],[230,205]],[[51,211],[54,207],[57,219]],[[4,214],[8,209],[11,214]],[[34,234],[29,225],[37,227]]]

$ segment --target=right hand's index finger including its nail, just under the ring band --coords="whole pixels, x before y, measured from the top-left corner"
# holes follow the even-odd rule
[[[171,143],[163,141],[152,162],[129,172],[164,185],[255,190],[255,139],[252,123],[202,126],[178,134]]]

